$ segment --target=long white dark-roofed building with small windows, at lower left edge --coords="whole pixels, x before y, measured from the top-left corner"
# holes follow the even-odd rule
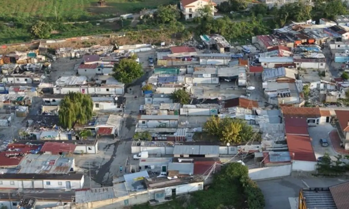
[[[2,174],[0,188],[14,189],[79,189],[83,174]]]

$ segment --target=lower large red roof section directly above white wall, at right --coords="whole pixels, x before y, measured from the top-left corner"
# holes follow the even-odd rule
[[[309,136],[286,134],[286,140],[292,160],[316,162]]]

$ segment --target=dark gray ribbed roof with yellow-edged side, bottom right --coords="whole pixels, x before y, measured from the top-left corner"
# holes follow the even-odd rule
[[[321,190],[321,188],[320,188]],[[314,188],[306,188],[302,191],[307,209],[337,209],[331,192],[328,188],[325,191],[315,191]]]

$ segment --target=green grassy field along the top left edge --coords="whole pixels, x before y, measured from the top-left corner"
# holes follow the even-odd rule
[[[105,7],[98,0],[0,0],[0,14],[16,17],[55,17],[81,19],[82,16],[116,16],[133,13],[143,8],[175,3],[175,0],[106,0]]]

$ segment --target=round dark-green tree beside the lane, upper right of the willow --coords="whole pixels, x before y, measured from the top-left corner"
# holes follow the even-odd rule
[[[131,83],[143,75],[142,65],[134,59],[121,59],[115,64],[113,77],[121,83]]]

